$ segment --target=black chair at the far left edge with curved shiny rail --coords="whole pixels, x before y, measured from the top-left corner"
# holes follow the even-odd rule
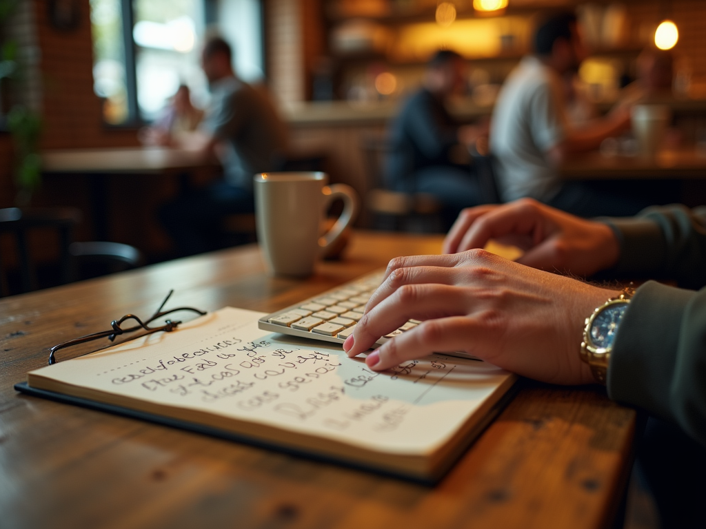
[[[30,252],[29,234],[34,230],[52,230],[59,238],[59,284],[78,279],[77,265],[95,260],[109,265],[109,271],[139,266],[143,262],[139,250],[120,243],[73,243],[73,231],[81,220],[78,209],[71,207],[0,209],[0,234],[14,238],[18,257],[21,292],[40,288],[37,267]],[[0,296],[10,293],[6,264],[0,255]]]

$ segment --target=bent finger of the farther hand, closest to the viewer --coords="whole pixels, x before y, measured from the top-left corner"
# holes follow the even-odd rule
[[[544,238],[544,217],[527,200],[512,202],[488,212],[474,222],[458,245],[458,251],[485,248],[491,238],[510,235],[532,236],[535,244]]]

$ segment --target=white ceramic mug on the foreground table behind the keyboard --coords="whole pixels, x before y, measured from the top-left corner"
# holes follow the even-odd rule
[[[358,212],[358,197],[350,186],[327,186],[321,172],[263,173],[255,176],[258,242],[270,274],[309,276],[316,258],[336,243]],[[324,212],[336,198],[343,212],[321,235]]]

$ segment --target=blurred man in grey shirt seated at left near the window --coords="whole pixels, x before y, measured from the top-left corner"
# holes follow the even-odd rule
[[[222,245],[222,221],[229,214],[255,210],[253,176],[282,169],[287,131],[273,102],[237,78],[232,49],[220,37],[206,42],[201,66],[212,102],[197,133],[181,145],[204,157],[218,154],[225,178],[201,190],[188,190],[160,209],[160,220],[179,255],[193,255]]]

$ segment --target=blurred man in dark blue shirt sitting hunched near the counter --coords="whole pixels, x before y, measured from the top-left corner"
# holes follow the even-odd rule
[[[430,193],[443,207],[448,229],[464,207],[480,202],[470,171],[466,142],[473,129],[463,127],[445,107],[465,85],[465,61],[455,51],[438,51],[426,66],[424,84],[403,104],[390,130],[385,161],[388,188]]]

